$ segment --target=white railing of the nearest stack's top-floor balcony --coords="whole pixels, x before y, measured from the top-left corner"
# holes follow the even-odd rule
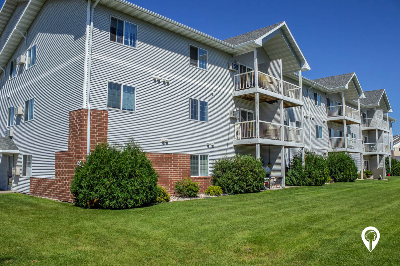
[[[235,91],[242,91],[245,89],[251,89],[255,87],[254,71],[249,71],[246,73],[237,74],[234,76]],[[258,71],[258,87],[265,89],[267,91],[272,91],[273,93],[278,93],[280,95],[285,95],[287,97],[300,100],[300,87],[292,83],[283,81],[283,91],[282,83],[280,79],[272,77],[271,75],[262,73]]]

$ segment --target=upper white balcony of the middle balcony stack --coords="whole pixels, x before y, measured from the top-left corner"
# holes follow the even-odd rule
[[[346,120],[346,125],[360,124],[360,112],[357,109],[347,105],[335,105],[326,107],[327,121],[332,121],[343,125],[343,119]]]

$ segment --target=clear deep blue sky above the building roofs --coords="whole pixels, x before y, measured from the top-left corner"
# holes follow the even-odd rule
[[[221,40],[286,21],[310,64],[305,77],[356,72],[364,91],[386,89],[390,115],[400,120],[399,0],[130,2]]]

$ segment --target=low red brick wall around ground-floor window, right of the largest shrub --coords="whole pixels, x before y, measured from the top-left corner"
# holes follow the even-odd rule
[[[185,175],[190,176],[190,154],[183,153],[147,153],[152,161],[154,169],[158,173],[158,184],[166,187],[168,193],[174,195],[174,185],[182,180]],[[200,193],[211,184],[210,177],[192,177],[193,181],[199,182]]]

